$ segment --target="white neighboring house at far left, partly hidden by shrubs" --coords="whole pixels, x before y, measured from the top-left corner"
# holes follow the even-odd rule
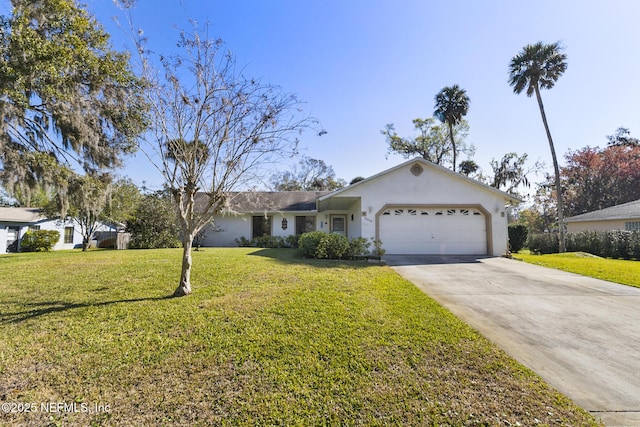
[[[100,224],[93,246],[100,246],[101,241],[114,240],[116,226]],[[29,230],[57,230],[60,240],[53,250],[74,249],[82,247],[80,226],[73,220],[61,221],[47,219],[38,208],[0,207],[0,254],[19,252],[20,241]]]

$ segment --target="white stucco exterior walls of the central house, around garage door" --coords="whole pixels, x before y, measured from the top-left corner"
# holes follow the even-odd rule
[[[416,166],[417,165],[417,166]],[[418,167],[419,166],[419,167]],[[277,212],[272,216],[273,236],[295,233],[296,216],[316,216],[316,230],[329,232],[332,215],[345,215],[347,237],[378,237],[378,217],[385,206],[455,206],[478,208],[486,218],[487,253],[500,256],[507,249],[505,205],[507,195],[476,184],[463,176],[422,161],[407,162],[378,176],[323,197],[318,212]],[[236,239],[252,236],[252,216],[218,215],[202,242],[204,246],[236,246]],[[282,220],[287,228],[282,228]],[[382,242],[384,247],[384,242]]]

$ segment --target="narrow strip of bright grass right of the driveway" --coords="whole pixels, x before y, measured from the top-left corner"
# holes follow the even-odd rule
[[[600,258],[583,252],[550,255],[523,252],[514,254],[513,257],[531,264],[640,288],[639,261]]]

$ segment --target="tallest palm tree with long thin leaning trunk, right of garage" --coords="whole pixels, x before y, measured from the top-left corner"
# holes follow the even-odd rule
[[[536,94],[538,107],[540,107],[540,115],[542,123],[547,132],[549,140],[549,148],[551,148],[551,157],[553,158],[553,169],[555,172],[555,186],[558,203],[558,228],[560,230],[560,252],[565,251],[564,239],[564,215],[562,203],[562,188],[560,186],[560,168],[558,167],[558,159],[556,150],[553,146],[553,139],[549,131],[547,116],[544,113],[542,105],[542,97],[540,89],[551,89],[558,78],[567,69],[567,55],[562,53],[560,42],[544,44],[538,42],[525,46],[518,55],[511,59],[509,64],[509,84],[513,86],[513,91],[520,94],[526,89],[527,96]]]

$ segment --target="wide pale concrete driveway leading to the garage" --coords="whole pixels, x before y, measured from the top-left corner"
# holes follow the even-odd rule
[[[640,426],[640,289],[504,258],[385,260],[607,426]]]

